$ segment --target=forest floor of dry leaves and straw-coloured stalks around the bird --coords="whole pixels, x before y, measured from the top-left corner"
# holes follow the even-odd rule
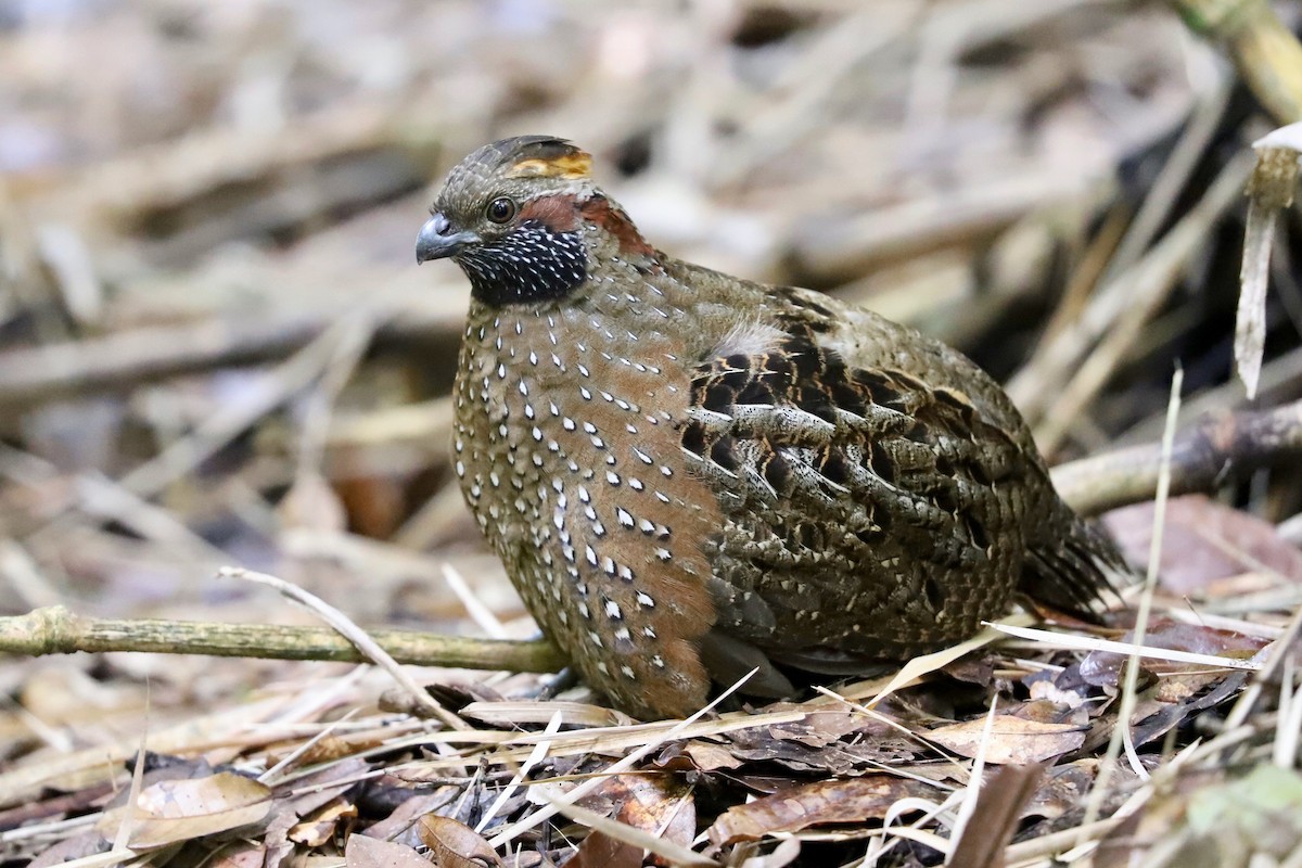
[[[1138,574],[1163,540],[1104,627],[687,721],[540,699],[544,643],[0,656],[0,865],[1302,865],[1302,462],[1160,501],[1070,463],[1156,476],[1168,416],[1216,445],[1302,398],[1295,211],[1255,400],[1233,368],[1277,121],[1169,7],[0,0],[0,82],[4,647],[322,625],[264,576],[345,631],[534,636],[449,468],[469,288],[413,262],[521,133],[673,255],[970,354],[1069,501],[1130,504]]]

